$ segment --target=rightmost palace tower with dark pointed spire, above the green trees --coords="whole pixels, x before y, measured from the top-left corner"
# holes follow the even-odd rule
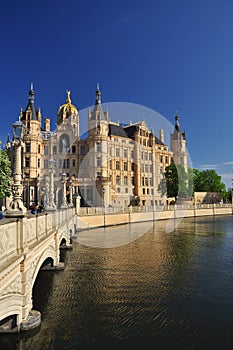
[[[179,116],[176,112],[174,132],[170,134],[171,151],[173,152],[173,160],[175,164],[183,165],[188,172],[188,153],[186,151],[186,135],[181,132]]]

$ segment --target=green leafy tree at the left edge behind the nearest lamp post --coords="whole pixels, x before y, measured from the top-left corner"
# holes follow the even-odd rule
[[[5,151],[0,151],[0,199],[11,195],[11,163]]]

